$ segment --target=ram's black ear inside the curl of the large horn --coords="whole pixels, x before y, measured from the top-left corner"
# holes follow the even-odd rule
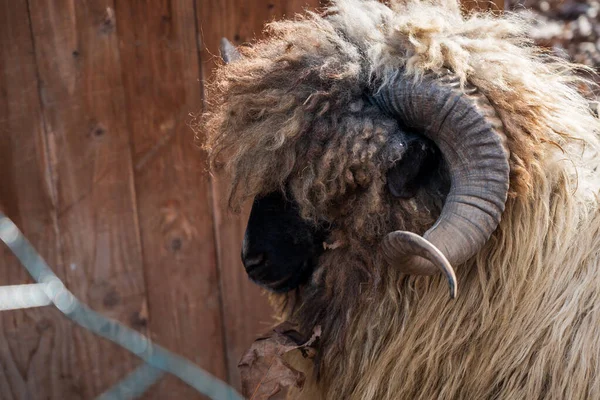
[[[406,150],[387,172],[387,187],[399,198],[414,197],[438,168],[440,152],[432,141],[419,135],[409,135],[403,143]]]

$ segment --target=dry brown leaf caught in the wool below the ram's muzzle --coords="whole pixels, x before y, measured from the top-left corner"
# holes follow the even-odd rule
[[[302,335],[290,322],[284,322],[256,339],[242,356],[238,368],[242,376],[242,394],[250,400],[267,400],[281,389],[296,386],[302,389],[306,377],[284,359],[283,355],[296,349],[306,354],[321,336],[321,328],[315,327],[313,335],[304,341]]]

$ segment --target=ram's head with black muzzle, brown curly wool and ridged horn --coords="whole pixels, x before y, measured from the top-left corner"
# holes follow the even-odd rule
[[[398,69],[363,82],[357,62],[345,72],[354,79],[334,84],[353,50],[311,43],[296,43],[295,56],[281,55],[291,45],[279,49],[277,68],[260,67],[263,59],[247,80],[230,77],[222,86],[228,111],[216,121],[219,138],[235,149],[233,192],[246,185],[259,193],[242,250],[248,274],[270,290],[294,289],[337,231],[349,257],[358,243],[402,272],[442,271],[454,295],[452,265],[485,245],[508,195],[509,153],[496,110],[449,70],[414,79]],[[340,60],[316,68],[306,55],[324,49]],[[232,46],[223,53],[240,57]]]

